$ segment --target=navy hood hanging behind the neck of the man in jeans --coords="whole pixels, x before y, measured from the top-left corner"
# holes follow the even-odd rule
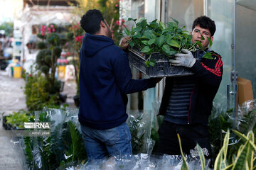
[[[81,50],[85,52],[86,57],[92,57],[96,52],[110,45],[114,45],[114,41],[107,36],[85,33],[84,38],[82,38]]]

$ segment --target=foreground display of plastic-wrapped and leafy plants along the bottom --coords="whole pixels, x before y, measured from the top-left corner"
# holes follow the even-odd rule
[[[154,108],[157,110],[157,108]],[[246,109],[245,109],[246,110]],[[6,116],[5,124],[17,130],[22,121],[50,122],[50,136],[21,137],[16,142],[21,162],[27,169],[255,169],[256,109],[240,111],[235,120],[214,104],[209,120],[213,159],[205,159],[201,147],[185,155],[157,155],[157,130],[161,119],[157,111],[128,111],[127,125],[132,135],[133,155],[106,157],[87,162],[78,122],[78,109],[43,108],[42,111],[21,111]],[[9,127],[9,126],[7,126]],[[155,148],[156,147],[156,148]],[[180,145],[182,151],[182,146]],[[181,152],[182,153],[182,152]],[[212,162],[212,163],[210,163]]]

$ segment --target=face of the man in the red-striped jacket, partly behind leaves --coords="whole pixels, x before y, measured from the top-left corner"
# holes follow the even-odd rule
[[[192,42],[195,43],[197,40],[202,43],[202,47],[208,47],[208,38],[213,41],[213,36],[210,35],[210,30],[206,28],[201,28],[200,26],[196,26],[193,31],[191,32],[192,35]],[[201,40],[203,35],[204,40]]]

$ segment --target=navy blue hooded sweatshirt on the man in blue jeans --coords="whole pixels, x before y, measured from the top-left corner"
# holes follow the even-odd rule
[[[85,33],[80,50],[79,122],[105,130],[127,120],[127,95],[156,86],[132,79],[127,54],[104,35]]]

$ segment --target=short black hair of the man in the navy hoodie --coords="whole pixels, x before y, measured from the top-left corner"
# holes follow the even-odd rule
[[[86,33],[95,34],[100,30],[100,21],[104,22],[102,13],[97,9],[90,9],[82,16],[80,26]]]

